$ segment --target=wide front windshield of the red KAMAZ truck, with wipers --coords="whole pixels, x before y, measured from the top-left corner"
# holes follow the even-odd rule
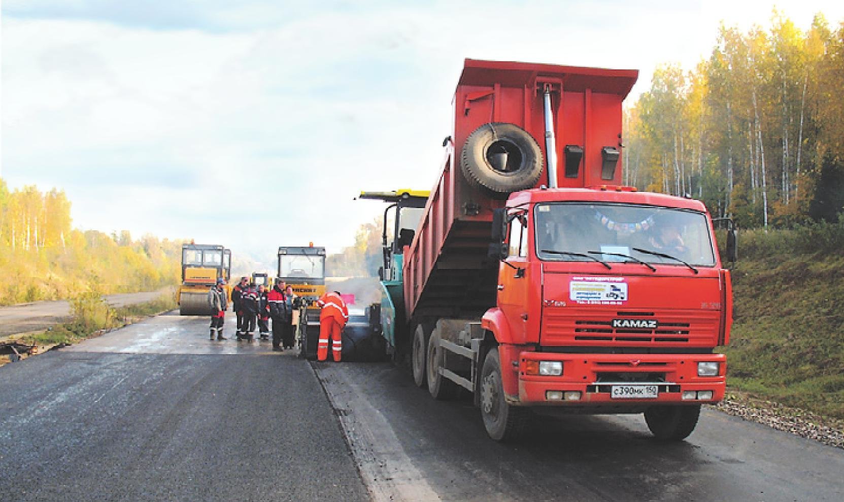
[[[696,211],[629,204],[557,202],[538,204],[535,222],[536,249],[540,260],[586,261],[587,258],[582,256],[566,254],[581,253],[604,262],[641,261],[681,267],[683,262],[704,267],[715,265],[706,215]],[[560,251],[565,253],[560,254]],[[625,255],[631,257],[626,258]]]

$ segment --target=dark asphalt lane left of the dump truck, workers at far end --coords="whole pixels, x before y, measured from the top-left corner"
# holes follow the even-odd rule
[[[0,367],[3,502],[365,499],[310,365],[209,342],[208,318],[158,316]]]

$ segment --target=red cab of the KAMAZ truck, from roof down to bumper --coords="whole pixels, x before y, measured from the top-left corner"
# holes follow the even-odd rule
[[[496,216],[497,305],[481,327],[498,342],[505,402],[646,418],[656,409],[693,427],[701,403],[722,399],[726,359],[714,348],[728,342],[732,292],[701,202],[533,189]]]

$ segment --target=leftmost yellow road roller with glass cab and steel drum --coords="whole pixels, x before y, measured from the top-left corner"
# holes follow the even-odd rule
[[[176,302],[181,316],[212,316],[208,305],[208,289],[217,282],[226,281],[226,298],[231,290],[231,250],[215,244],[181,245],[181,286],[176,291]]]

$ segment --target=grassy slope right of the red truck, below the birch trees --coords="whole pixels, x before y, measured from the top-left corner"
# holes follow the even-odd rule
[[[844,418],[844,246],[834,246],[844,224],[755,230],[745,241],[733,269],[728,385]]]

